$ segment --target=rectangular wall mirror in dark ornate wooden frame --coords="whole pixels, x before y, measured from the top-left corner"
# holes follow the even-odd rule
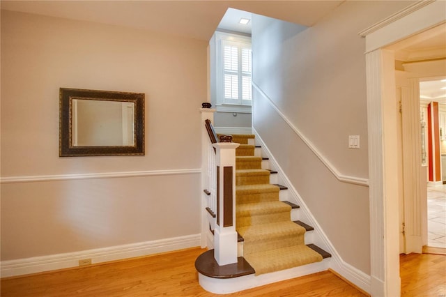
[[[59,156],[144,155],[144,93],[59,90]]]

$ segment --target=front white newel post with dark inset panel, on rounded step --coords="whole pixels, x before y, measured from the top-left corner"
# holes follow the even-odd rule
[[[236,231],[236,148],[231,135],[222,135],[213,144],[217,159],[217,224],[214,232],[214,257],[222,266],[237,263]]]

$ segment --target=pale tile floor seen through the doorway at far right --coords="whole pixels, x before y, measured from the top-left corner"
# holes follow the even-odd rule
[[[427,187],[427,245],[446,248],[446,185]]]

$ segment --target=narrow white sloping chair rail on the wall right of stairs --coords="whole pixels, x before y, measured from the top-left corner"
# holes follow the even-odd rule
[[[334,165],[332,165],[332,163],[327,158],[325,158],[325,156],[318,150],[318,148],[316,148],[316,146],[307,137],[305,137],[305,135],[303,135],[302,132],[300,132],[300,130],[298,128],[296,128],[295,125],[293,125],[293,123],[291,123],[291,121],[289,121],[289,119],[287,119],[284,114],[282,114],[282,112],[275,105],[275,103],[272,102],[271,98],[269,98],[268,95],[266,95],[266,93],[263,92],[259,86],[257,86],[257,84],[252,82],[252,86],[257,91],[259,91],[259,93],[261,93],[261,96],[268,99],[268,102],[270,103],[272,108],[275,109],[277,114],[279,114],[279,116],[285,121],[285,123],[287,125],[289,125],[289,127],[295,132],[295,134],[298,135],[298,137],[300,139],[302,139],[302,142],[304,142],[305,145],[307,145],[308,148],[312,150],[314,155],[316,155],[316,157],[319,160],[321,160],[323,165],[325,165],[325,167],[327,167],[327,169],[330,170],[330,172],[337,178],[338,181],[341,181],[343,183],[353,183],[354,185],[363,185],[366,187],[369,186],[368,178],[362,178],[362,177],[357,177],[357,176],[347,176],[347,175],[341,174],[341,172],[339,172],[339,170],[336,167],[334,167]]]

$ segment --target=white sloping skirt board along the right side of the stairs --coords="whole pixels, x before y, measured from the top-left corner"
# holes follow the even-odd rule
[[[279,180],[279,183],[282,185],[285,185],[288,190],[288,199],[289,201],[298,204],[300,206],[299,208],[299,217],[300,220],[306,222],[307,224],[310,224],[314,227],[313,232],[313,242],[314,244],[318,245],[320,248],[323,248],[324,250],[330,252],[332,254],[332,257],[328,261],[328,268],[330,268],[335,273],[339,274],[341,277],[344,277],[349,282],[355,284],[355,286],[359,287],[360,289],[370,292],[371,288],[371,276],[367,275],[367,273],[364,273],[360,271],[359,269],[351,266],[350,264],[346,263],[344,259],[341,258],[337,250],[334,248],[334,245],[331,243],[331,241],[328,239],[328,236],[324,233],[322,227],[318,224],[316,221],[316,218],[312,215],[311,211],[309,211],[309,208],[305,204],[305,201],[302,199],[302,197],[299,195],[298,191],[294,188],[291,181],[289,181],[289,178],[284,174],[284,171],[282,170],[282,167],[279,166],[277,163],[277,160],[275,160],[274,156],[268,149],[268,146],[263,142],[263,139],[261,139],[259,133],[255,130],[255,128],[252,128],[252,134],[255,135],[256,144],[261,146],[262,150],[262,156],[268,157],[270,161],[270,168],[277,171],[277,178]],[[324,259],[326,261],[328,259]],[[310,264],[313,265],[313,264]],[[291,268],[294,269],[294,268]],[[279,271],[280,272],[280,271]],[[309,274],[309,273],[307,273]],[[302,276],[302,275],[300,275]]]

